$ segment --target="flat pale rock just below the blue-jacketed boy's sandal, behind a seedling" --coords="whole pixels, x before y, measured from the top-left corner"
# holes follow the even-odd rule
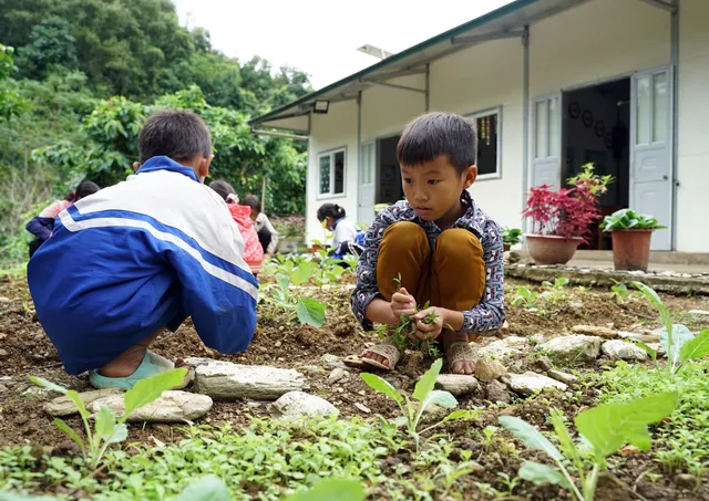
[[[116,416],[122,416],[123,395],[112,395],[96,398],[88,408],[92,413],[97,413],[101,407],[109,407]],[[212,398],[207,395],[171,389],[163,392],[157,400],[151,401],[146,406],[135,409],[129,417],[129,421],[151,421],[151,422],[184,422],[201,418],[212,408]]]

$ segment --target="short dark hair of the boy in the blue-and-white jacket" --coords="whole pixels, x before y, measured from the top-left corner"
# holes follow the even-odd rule
[[[199,116],[183,109],[161,109],[143,124],[137,138],[141,164],[156,156],[175,161],[212,155],[212,135]]]

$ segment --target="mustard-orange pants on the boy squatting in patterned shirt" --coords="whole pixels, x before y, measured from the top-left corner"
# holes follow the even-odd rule
[[[430,301],[431,306],[463,312],[480,303],[485,290],[483,247],[472,232],[452,228],[435,239],[431,252],[423,228],[397,222],[384,231],[377,260],[377,284],[387,301],[399,290],[399,274],[419,306]]]

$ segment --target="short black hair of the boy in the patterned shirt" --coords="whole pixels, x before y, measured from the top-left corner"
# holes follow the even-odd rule
[[[475,165],[477,134],[475,125],[452,113],[429,113],[414,118],[404,129],[397,145],[399,164],[407,166],[448,156],[458,174]]]

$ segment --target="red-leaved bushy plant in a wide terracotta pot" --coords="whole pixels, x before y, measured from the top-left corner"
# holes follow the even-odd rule
[[[524,237],[534,262],[566,264],[574,257],[598,219],[598,197],[613,180],[594,174],[593,164],[586,164],[578,176],[567,179],[572,188],[552,191],[542,185],[530,190],[523,215],[532,219],[532,231]]]

